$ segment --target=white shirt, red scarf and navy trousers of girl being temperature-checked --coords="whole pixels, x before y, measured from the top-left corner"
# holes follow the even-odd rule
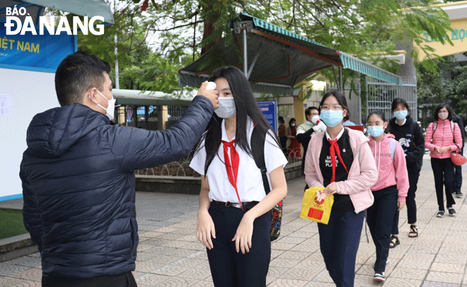
[[[211,201],[209,215],[214,221],[216,230],[216,238],[212,238],[214,247],[207,250],[212,280],[214,286],[221,287],[266,286],[271,255],[271,213],[267,212],[255,219],[250,252],[246,254],[236,252],[235,242],[232,241],[243,214],[266,197],[263,178],[255,160],[234,144],[235,137],[230,141],[227,138],[225,120],[221,123],[221,132],[222,142],[217,156],[214,156],[205,175],[209,182],[209,200]],[[252,132],[253,122],[248,119],[248,144]],[[205,160],[206,150],[202,142],[190,167],[204,175]],[[266,135],[265,164],[269,182],[270,172],[287,164],[284,153],[270,134]],[[233,174],[237,167],[238,175],[235,182]],[[272,189],[271,185],[270,189]],[[239,202],[242,203],[243,211]]]

